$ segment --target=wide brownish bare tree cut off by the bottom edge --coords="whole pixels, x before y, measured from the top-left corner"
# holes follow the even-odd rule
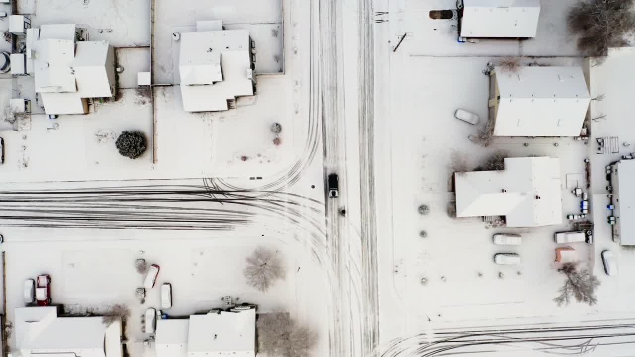
[[[307,357],[317,334],[287,313],[260,314],[256,323],[258,352],[267,356]]]

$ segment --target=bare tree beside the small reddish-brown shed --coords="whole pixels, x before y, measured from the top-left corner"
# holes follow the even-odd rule
[[[595,292],[599,286],[598,278],[587,269],[578,269],[580,262],[568,262],[562,265],[558,271],[566,275],[565,285],[558,292],[560,295],[554,299],[558,306],[566,306],[572,297],[577,302],[584,302],[593,306],[598,303]]]

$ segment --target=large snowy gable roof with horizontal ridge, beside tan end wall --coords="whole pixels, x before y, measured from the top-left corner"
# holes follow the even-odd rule
[[[591,96],[580,67],[494,68],[500,102],[494,135],[580,135]]]

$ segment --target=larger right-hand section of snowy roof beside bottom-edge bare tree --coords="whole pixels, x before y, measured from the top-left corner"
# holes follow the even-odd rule
[[[256,309],[190,316],[189,357],[255,356]]]

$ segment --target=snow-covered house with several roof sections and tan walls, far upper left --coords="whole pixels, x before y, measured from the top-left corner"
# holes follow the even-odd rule
[[[78,39],[74,24],[27,29],[27,73],[46,114],[86,114],[89,98],[114,95],[112,46]]]

